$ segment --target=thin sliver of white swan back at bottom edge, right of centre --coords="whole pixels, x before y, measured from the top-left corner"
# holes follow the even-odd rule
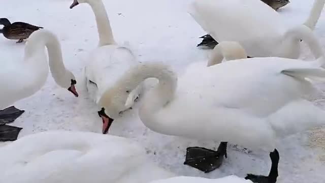
[[[238,177],[236,175],[225,176],[222,178],[204,178],[204,177],[190,177],[190,176],[177,176],[167,179],[154,180],[150,183],[252,183],[251,180]]]

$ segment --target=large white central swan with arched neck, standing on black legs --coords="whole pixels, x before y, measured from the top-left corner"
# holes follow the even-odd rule
[[[303,97],[316,92],[310,80],[324,79],[324,62],[323,57],[311,62],[262,57],[210,67],[193,63],[180,77],[167,65],[149,62],[130,69],[106,93],[112,101],[126,99],[128,90],[157,78],[139,109],[149,129],[271,151],[281,138],[325,124],[325,111]],[[215,152],[216,161],[225,150]]]

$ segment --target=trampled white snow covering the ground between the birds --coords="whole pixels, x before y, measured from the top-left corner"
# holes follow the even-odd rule
[[[199,36],[204,35],[201,27],[186,12],[190,0],[105,0],[113,32],[119,43],[128,41],[139,60],[163,60],[182,72],[189,63],[207,59],[208,50],[196,48]],[[83,79],[84,56],[98,44],[98,33],[93,13],[89,6],[81,5],[69,9],[72,0],[10,0],[0,6],[0,16],[11,21],[25,21],[44,26],[60,39],[63,58],[67,68],[77,76],[79,98],[59,88],[52,77],[34,96],[15,105],[26,112],[13,125],[23,127],[20,136],[46,130],[65,129],[101,133],[102,122],[96,106],[89,100]],[[299,24],[308,16],[313,1],[293,0],[279,11],[288,24]],[[261,17],[263,18],[263,17]],[[325,14],[317,25],[315,33],[325,45]],[[0,37],[1,62],[22,59],[24,44]],[[311,59],[306,47],[303,59]],[[118,72],[118,71],[116,71]],[[320,85],[325,88],[325,85]],[[325,95],[320,93],[315,101],[325,104]],[[140,101],[141,102],[141,101]],[[139,105],[139,104],[137,104]],[[168,120],[168,118],[166,118]],[[218,142],[196,141],[157,134],[147,129],[139,120],[137,110],[130,111],[115,120],[112,135],[135,139],[147,148],[152,160],[180,175],[222,177],[245,173],[267,174],[270,166],[269,155],[263,151],[246,154],[242,148],[229,148],[229,158],[219,169],[204,174],[183,165],[187,146],[213,148]],[[280,164],[278,182],[325,182],[325,164],[321,160],[324,149],[316,141],[323,133],[308,133],[284,139],[278,147]],[[318,140],[317,140],[318,139]],[[3,145],[2,143],[0,145]],[[321,143],[325,145],[325,142]],[[319,144],[318,144],[319,146]],[[9,156],[9,155],[8,155]]]

